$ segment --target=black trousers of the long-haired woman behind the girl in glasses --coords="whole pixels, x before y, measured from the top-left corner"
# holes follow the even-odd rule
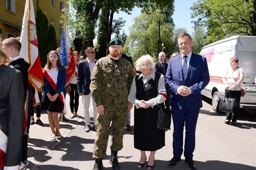
[[[69,105],[70,105],[70,111],[71,112],[77,112],[78,110],[78,105],[79,105],[79,94],[78,94],[78,90],[77,90],[77,84],[69,84],[71,87],[71,90],[69,91],[69,95],[70,95],[70,101],[69,101]],[[75,102],[74,102],[75,101]]]

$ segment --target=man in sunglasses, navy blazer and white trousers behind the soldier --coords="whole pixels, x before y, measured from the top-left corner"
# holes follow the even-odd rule
[[[93,47],[87,47],[84,52],[87,55],[87,58],[80,61],[77,64],[77,89],[80,96],[82,96],[82,104],[83,104],[83,113],[84,113],[84,122],[86,132],[90,131],[90,115],[89,115],[89,106],[90,100],[92,99],[93,103],[93,120],[94,120],[94,128],[95,128],[95,121],[97,116],[96,105],[93,100],[92,93],[90,91],[90,76],[92,69],[95,66],[97,60],[95,59],[95,50]]]

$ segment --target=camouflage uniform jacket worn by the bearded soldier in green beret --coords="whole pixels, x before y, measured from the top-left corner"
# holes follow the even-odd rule
[[[124,58],[120,57],[117,64],[110,55],[99,59],[90,77],[90,90],[96,105],[128,106],[128,94],[135,75],[131,64]]]

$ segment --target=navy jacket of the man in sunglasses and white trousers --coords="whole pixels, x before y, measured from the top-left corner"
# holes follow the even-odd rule
[[[94,59],[96,63],[98,60]],[[77,89],[78,93],[83,93],[83,95],[90,94],[90,83],[91,83],[91,72],[87,59],[80,61],[77,64]]]

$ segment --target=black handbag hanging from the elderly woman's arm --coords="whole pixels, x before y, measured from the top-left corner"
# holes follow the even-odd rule
[[[155,82],[156,82],[156,89],[158,89],[158,78],[157,74],[155,74]],[[156,90],[156,93],[158,90]],[[157,93],[158,95],[158,93]],[[156,95],[156,96],[157,96]],[[172,110],[164,108],[164,104],[161,103],[158,105],[158,117],[157,117],[157,128],[158,129],[171,129],[171,120],[172,120]]]

